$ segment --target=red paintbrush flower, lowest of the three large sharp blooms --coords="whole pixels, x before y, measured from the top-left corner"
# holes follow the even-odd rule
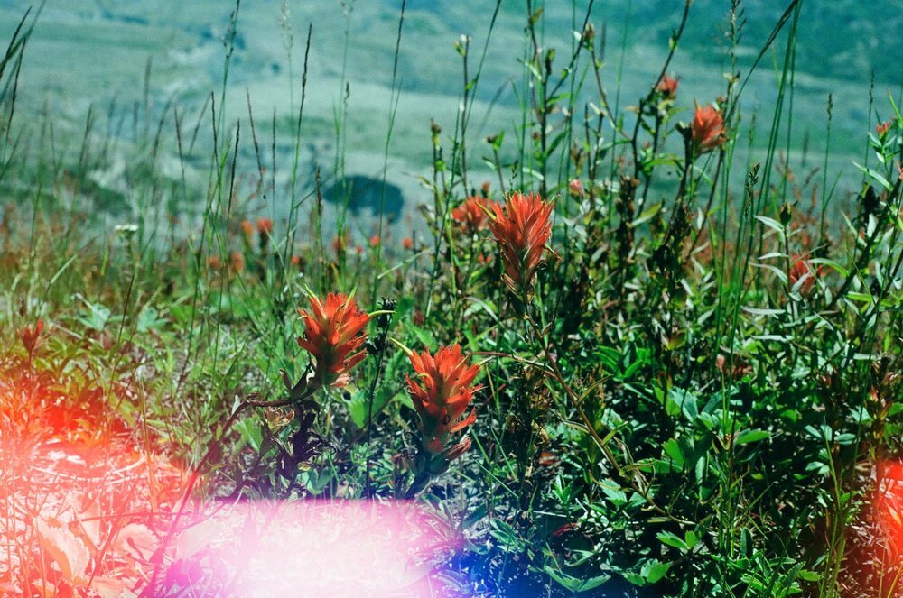
[[[470,356],[461,354],[461,346],[444,346],[435,356],[429,351],[408,354],[417,376],[407,378],[408,391],[414,401],[414,409],[420,416],[424,434],[424,448],[433,454],[445,452],[449,435],[467,428],[477,419],[470,414],[461,419],[470,406],[473,393],[481,387],[471,387],[479,373],[479,364],[470,365]],[[461,455],[466,446],[457,451],[453,447],[450,460]]]

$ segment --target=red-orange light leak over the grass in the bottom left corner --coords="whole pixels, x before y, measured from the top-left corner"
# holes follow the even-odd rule
[[[0,380],[0,595],[133,595],[152,570],[187,476],[102,399],[32,370]]]

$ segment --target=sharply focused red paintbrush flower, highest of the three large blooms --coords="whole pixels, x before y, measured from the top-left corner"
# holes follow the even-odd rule
[[[495,220],[489,229],[498,241],[505,264],[505,283],[516,293],[526,291],[543,262],[543,249],[552,235],[554,203],[538,193],[514,193],[504,207],[492,204]]]

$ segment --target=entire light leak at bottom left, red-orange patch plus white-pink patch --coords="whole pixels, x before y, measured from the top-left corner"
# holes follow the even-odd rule
[[[424,504],[196,501],[183,510],[191,472],[105,427],[88,400],[60,407],[51,382],[0,380],[0,595],[461,595],[441,571],[463,548],[461,533]]]

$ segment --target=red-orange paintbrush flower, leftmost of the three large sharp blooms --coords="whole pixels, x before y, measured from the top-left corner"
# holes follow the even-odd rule
[[[351,368],[367,355],[364,327],[370,317],[358,309],[353,297],[330,293],[326,302],[311,295],[311,311],[299,309],[304,336],[298,345],[314,360],[313,380],[321,386],[344,386]]]

